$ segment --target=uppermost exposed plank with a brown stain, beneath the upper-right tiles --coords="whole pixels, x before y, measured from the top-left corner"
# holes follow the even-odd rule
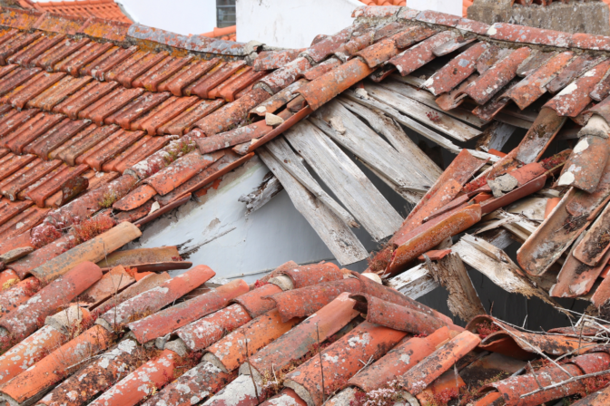
[[[390,104],[398,111],[456,140],[472,140],[482,134],[481,131],[470,127],[462,121],[457,121],[444,112],[430,111],[430,108],[425,104],[416,102],[397,92],[389,91],[379,84],[367,83],[365,90],[369,93],[369,96],[379,100],[379,102]]]

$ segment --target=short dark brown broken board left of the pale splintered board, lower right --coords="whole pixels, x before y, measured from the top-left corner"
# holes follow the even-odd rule
[[[478,314],[487,314],[478,297],[466,266],[456,253],[432,262],[426,257],[426,266],[438,285],[448,290],[447,304],[451,314],[469,322]]]

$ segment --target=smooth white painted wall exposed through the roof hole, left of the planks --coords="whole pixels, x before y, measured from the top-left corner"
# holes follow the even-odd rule
[[[245,203],[238,198],[257,188],[267,172],[269,169],[258,157],[253,158],[226,175],[219,189],[209,189],[200,202],[191,200],[177,214],[156,219],[126,249],[184,244],[183,252],[205,243],[188,260],[194,265],[210,266],[216,275],[225,278],[252,273],[259,273],[260,277],[261,271],[290,260],[306,264],[332,259],[329,249],[284,190],[245,216]],[[257,275],[245,279],[253,282]]]

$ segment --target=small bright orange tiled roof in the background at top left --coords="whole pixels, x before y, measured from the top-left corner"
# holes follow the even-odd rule
[[[125,14],[114,0],[73,0],[73,1],[50,1],[34,2],[31,0],[20,0],[24,8],[32,8],[42,12],[78,15],[79,17],[97,17],[107,20],[120,21],[131,24],[132,20]]]

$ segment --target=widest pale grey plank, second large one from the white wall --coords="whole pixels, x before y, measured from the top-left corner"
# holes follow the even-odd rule
[[[379,241],[400,227],[398,212],[322,131],[309,121],[300,121],[284,136],[371,237]]]

